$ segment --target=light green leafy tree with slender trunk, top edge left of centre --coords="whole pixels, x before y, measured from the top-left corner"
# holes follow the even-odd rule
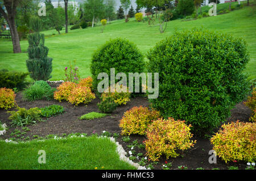
[[[92,19],[92,27],[94,27],[94,20],[101,18],[102,13],[104,14],[104,3],[103,0],[87,0],[84,3],[85,16]]]

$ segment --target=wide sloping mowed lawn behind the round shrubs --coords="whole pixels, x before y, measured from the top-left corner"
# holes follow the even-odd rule
[[[125,20],[115,20],[107,24],[104,33],[101,32],[101,26],[86,28],[85,30],[72,30],[65,34],[57,35],[55,30],[44,31],[46,35],[45,45],[49,48],[48,56],[53,58],[53,71],[51,80],[64,79],[64,68],[69,65],[69,61],[76,60],[80,68],[82,78],[90,75],[90,62],[92,54],[102,44],[116,37],[123,37],[134,42],[143,54],[147,54],[150,48],[164,38],[173,35],[175,31],[191,30],[191,28],[205,28],[210,31],[230,33],[234,37],[241,37],[247,43],[247,49],[250,53],[250,62],[247,64],[246,73],[250,79],[256,78],[256,15],[252,7],[244,7],[241,10],[231,11],[228,14],[201,18],[197,20],[173,20],[168,22],[167,30],[164,33],[159,32],[158,20],[155,25],[150,27],[147,22],[135,22],[130,19],[128,23]],[[55,33],[55,35],[52,35]],[[27,71],[27,40],[20,42],[22,52],[13,53],[11,41],[0,40],[0,67]],[[147,58],[145,58],[147,61]],[[31,81],[31,79],[28,79]]]

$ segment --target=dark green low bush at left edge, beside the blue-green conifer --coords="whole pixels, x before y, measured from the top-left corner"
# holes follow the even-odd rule
[[[25,82],[27,75],[30,73],[8,71],[6,69],[0,70],[0,87],[6,87],[9,89],[22,90],[28,85]]]

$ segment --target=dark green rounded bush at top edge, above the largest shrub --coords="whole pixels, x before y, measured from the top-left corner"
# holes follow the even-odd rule
[[[193,0],[179,0],[177,4],[177,12],[180,15],[188,16],[195,11],[195,3]]]

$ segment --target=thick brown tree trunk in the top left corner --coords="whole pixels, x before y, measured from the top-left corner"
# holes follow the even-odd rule
[[[16,18],[16,8],[21,2],[20,0],[3,0],[0,1],[0,12],[9,24],[11,32],[11,40],[13,41],[13,52],[21,53],[21,48],[19,44],[19,35],[15,24]],[[5,8],[3,7],[5,6]],[[5,10],[7,12],[5,12]]]

